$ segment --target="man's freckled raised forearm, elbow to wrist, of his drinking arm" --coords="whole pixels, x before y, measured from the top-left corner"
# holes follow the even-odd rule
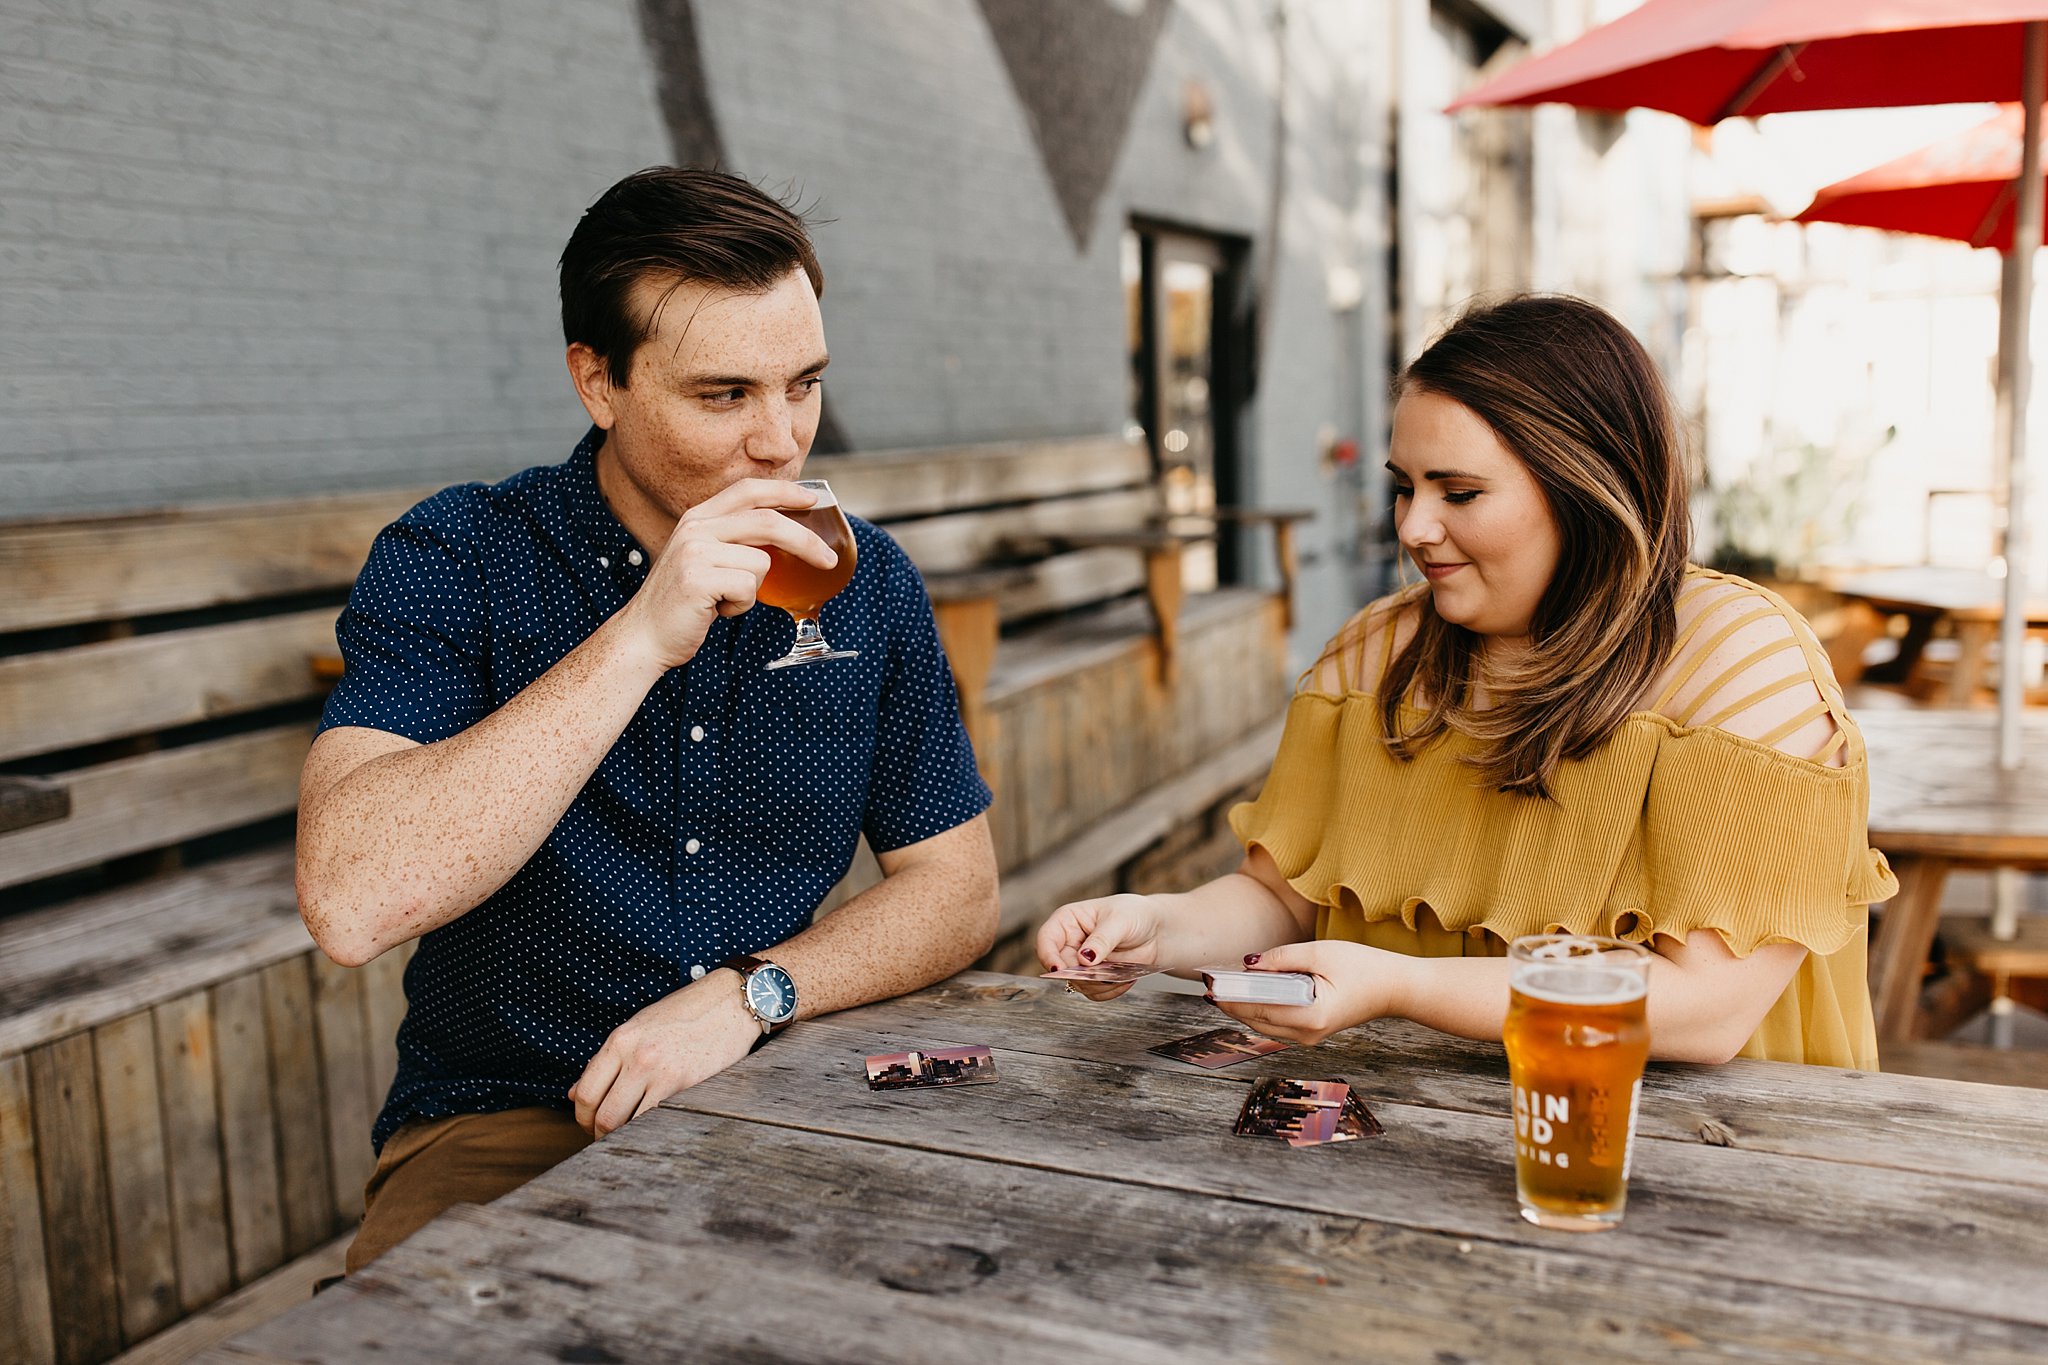
[[[504,886],[659,675],[614,616],[461,735],[373,757],[301,804],[299,905],[328,956],[367,962]]]

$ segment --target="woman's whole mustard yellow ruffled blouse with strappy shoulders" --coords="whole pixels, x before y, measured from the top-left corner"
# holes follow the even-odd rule
[[[1380,743],[1372,688],[1417,596],[1346,626],[1296,692],[1260,798],[1231,810],[1245,847],[1321,907],[1317,937],[1411,956],[1501,956],[1556,931],[1712,929],[1739,958],[1800,943],[1741,1056],[1874,1070],[1868,905],[1898,882],[1868,843],[1862,735],[1798,612],[1690,569],[1657,702],[1561,763],[1540,800],[1483,786],[1464,735],[1409,761]]]

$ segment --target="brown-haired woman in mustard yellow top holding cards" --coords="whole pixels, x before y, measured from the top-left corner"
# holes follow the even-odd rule
[[[1303,677],[1243,866],[1063,905],[1047,966],[1243,958],[1294,1042],[1401,1015],[1499,1038],[1524,933],[1647,943],[1651,1050],[1876,1066],[1864,743],[1812,630],[1688,565],[1688,479],[1642,346],[1579,299],[1458,319],[1403,375],[1389,471],[1423,583]],[[1122,986],[1079,984],[1094,999]]]

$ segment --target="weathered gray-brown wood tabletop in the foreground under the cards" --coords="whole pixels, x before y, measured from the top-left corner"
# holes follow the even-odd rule
[[[213,1361],[2040,1361],[2048,1091],[1653,1064],[1616,1232],[1516,1212],[1505,1062],[1403,1021],[1198,1070],[1196,997],[965,974],[813,1019]],[[872,1093],[987,1044],[999,1083]],[[1257,1076],[1384,1136],[1235,1138]]]

